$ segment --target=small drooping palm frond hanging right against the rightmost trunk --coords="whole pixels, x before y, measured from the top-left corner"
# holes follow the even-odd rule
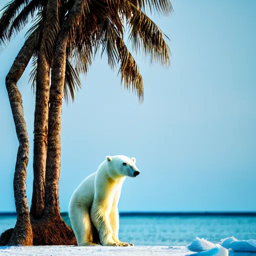
[[[81,88],[79,73],[73,68],[68,59],[66,59],[65,81],[64,81],[64,98],[69,102],[69,97],[74,100],[75,91]]]

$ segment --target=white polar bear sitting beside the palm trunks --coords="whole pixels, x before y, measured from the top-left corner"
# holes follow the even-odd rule
[[[118,200],[126,176],[136,177],[135,158],[107,155],[96,172],[87,176],[73,192],[68,214],[77,245],[128,246],[118,239]]]

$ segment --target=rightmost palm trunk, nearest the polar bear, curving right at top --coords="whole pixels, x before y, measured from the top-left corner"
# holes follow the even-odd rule
[[[61,113],[65,79],[66,45],[71,25],[77,21],[82,10],[82,0],[75,1],[64,20],[57,38],[51,73],[48,120],[48,146],[45,174],[45,213],[60,215],[58,182],[61,158]]]

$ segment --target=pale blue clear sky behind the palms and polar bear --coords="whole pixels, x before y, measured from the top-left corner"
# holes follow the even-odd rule
[[[256,1],[172,0],[172,5],[171,17],[153,17],[170,38],[171,67],[150,67],[136,58],[144,78],[142,105],[122,89],[104,57],[82,77],[74,103],[63,106],[61,211],[108,154],[134,156],[141,171],[126,178],[121,211],[256,211]],[[15,209],[18,141],[4,78],[23,35],[0,54],[0,211]],[[30,69],[18,82],[31,141],[29,203]]]

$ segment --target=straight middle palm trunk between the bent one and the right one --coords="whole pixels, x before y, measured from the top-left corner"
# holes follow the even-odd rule
[[[40,218],[44,212],[44,186],[48,133],[48,101],[50,63],[53,60],[52,31],[57,35],[58,4],[49,0],[43,12],[43,30],[40,50],[37,56],[36,92],[34,110],[34,147],[33,147],[33,194],[30,214]],[[49,33],[51,36],[49,36]],[[51,40],[49,40],[51,38]]]

